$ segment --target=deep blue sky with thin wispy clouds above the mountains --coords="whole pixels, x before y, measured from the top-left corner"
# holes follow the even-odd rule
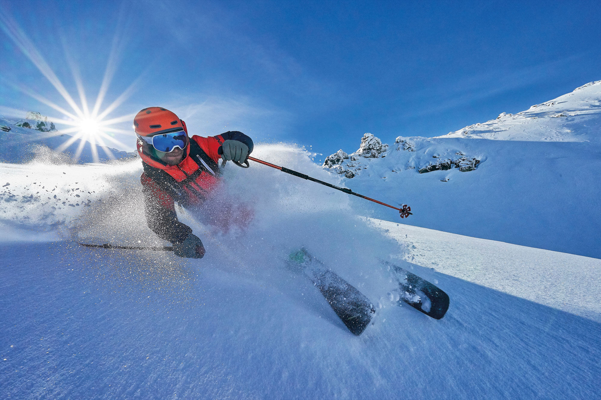
[[[324,156],[355,151],[365,132],[444,135],[601,79],[599,1],[0,7],[0,114],[63,117],[31,92],[70,109],[36,49],[76,103],[74,70],[91,105],[110,82],[101,111],[124,94],[106,119],[163,106],[192,134],[240,130]],[[124,146],[111,147],[133,149],[133,133],[114,135]]]

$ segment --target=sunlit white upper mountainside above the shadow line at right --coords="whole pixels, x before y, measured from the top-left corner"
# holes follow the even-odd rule
[[[438,138],[478,138],[504,141],[599,141],[601,80],[531,106],[517,114],[502,112],[495,120],[466,126]]]

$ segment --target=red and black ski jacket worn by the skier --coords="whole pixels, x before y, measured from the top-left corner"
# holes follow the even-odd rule
[[[144,172],[140,177],[148,228],[171,243],[182,243],[192,229],[180,222],[174,204],[194,207],[203,204],[219,182],[221,144],[227,140],[243,142],[252,151],[252,139],[242,132],[230,131],[218,136],[192,136],[186,156],[178,165],[167,165],[144,151],[138,140],[138,153]]]

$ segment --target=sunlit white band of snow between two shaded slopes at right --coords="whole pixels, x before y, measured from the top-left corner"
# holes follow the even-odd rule
[[[601,260],[395,222],[374,225],[406,244],[405,259],[438,273],[601,323]]]

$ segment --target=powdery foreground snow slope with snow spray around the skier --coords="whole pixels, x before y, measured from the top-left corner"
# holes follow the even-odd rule
[[[255,156],[340,184],[297,148]],[[252,210],[246,228],[178,210],[201,260],[78,246],[163,244],[140,173],[139,161],[0,165],[2,398],[597,395],[599,259],[365,219],[371,206],[260,165],[228,165],[214,202]],[[374,302],[363,335],[284,267],[299,246]],[[397,306],[378,258],[438,284],[447,315]]]

